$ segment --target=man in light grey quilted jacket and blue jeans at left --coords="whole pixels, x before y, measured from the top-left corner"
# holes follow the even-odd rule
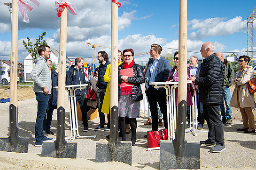
[[[36,93],[36,100],[38,102],[37,120],[35,127],[35,146],[42,146],[43,141],[53,140],[47,138],[43,133],[43,120],[45,119],[48,109],[49,94],[52,92],[52,78],[51,70],[47,64],[47,59],[50,58],[50,47],[48,45],[41,45],[38,48],[35,66],[31,71],[31,79],[34,82],[34,92]]]

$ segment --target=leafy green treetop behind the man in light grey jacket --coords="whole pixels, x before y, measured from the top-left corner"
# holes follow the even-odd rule
[[[38,47],[40,45],[47,45],[47,42],[45,40],[43,40],[45,35],[46,35],[46,32],[43,32],[41,35],[39,35],[38,39],[36,39],[36,43],[34,43],[34,44],[32,44],[29,37],[27,37],[28,43],[26,43],[24,40],[22,41],[25,48],[31,54],[31,56],[33,58],[33,62],[35,61],[36,55],[38,54],[38,52],[37,52]]]

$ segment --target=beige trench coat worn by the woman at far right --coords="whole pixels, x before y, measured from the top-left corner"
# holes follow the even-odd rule
[[[237,102],[237,85],[240,86],[240,91],[239,91],[239,103],[240,107],[251,107],[254,108],[256,103],[254,102],[254,93],[250,94],[248,90],[248,80],[252,79],[254,77],[254,71],[251,67],[245,68],[245,71],[242,73],[241,78],[236,81],[236,77],[238,75],[235,75],[235,77],[231,80],[231,83],[235,86],[231,101],[230,101],[230,106],[232,107],[238,107],[238,102]]]

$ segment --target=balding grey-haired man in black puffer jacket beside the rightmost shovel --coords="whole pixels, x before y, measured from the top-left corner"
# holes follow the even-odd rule
[[[200,144],[215,146],[210,152],[222,152],[225,150],[225,145],[220,104],[223,103],[225,68],[214,53],[213,43],[203,43],[200,52],[204,59],[199,76],[189,78],[198,85],[199,100],[203,103],[203,115],[209,128],[208,139],[200,141]]]

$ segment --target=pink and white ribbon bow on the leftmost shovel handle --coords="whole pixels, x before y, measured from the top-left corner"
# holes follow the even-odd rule
[[[36,4],[36,6],[39,7],[40,3],[37,0],[30,0],[31,2],[33,2],[34,4]],[[29,17],[26,13],[26,10],[31,11],[33,9],[33,7],[31,7],[30,5],[28,5],[28,0],[18,0],[18,6],[19,6],[19,10],[22,14],[23,17],[23,22],[29,23]]]

